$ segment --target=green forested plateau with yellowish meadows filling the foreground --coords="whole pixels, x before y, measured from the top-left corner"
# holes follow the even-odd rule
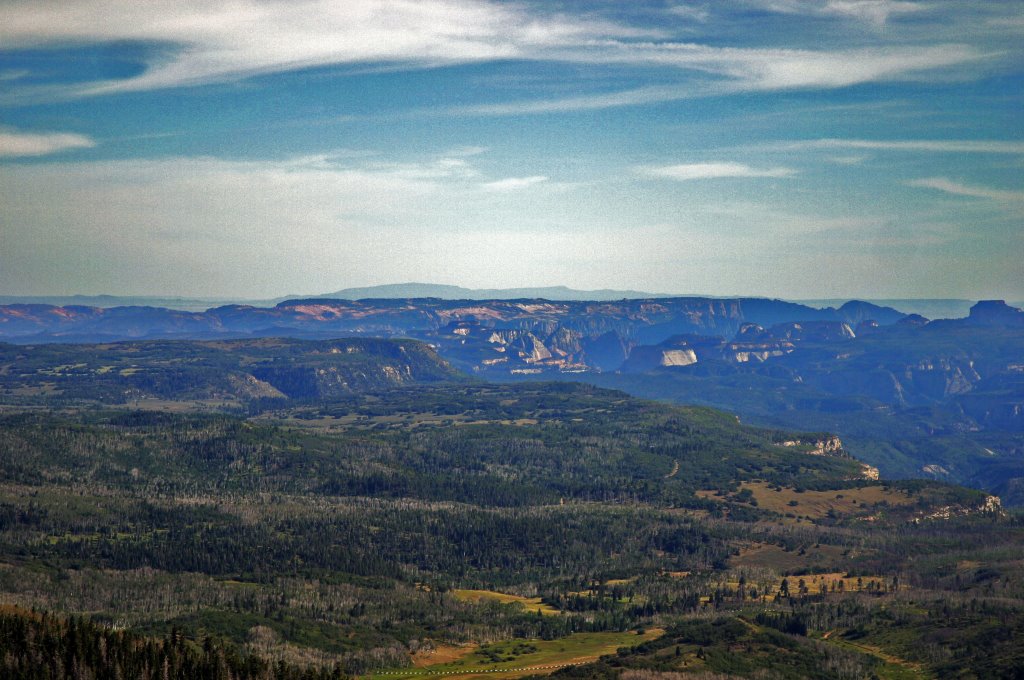
[[[871,479],[827,432],[461,377],[195,396],[0,411],[11,677],[430,677],[573,644],[581,677],[1014,677],[1019,516]]]

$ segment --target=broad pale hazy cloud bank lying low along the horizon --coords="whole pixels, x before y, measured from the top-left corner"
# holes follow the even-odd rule
[[[489,163],[454,160],[466,159],[0,165],[0,289],[273,297],[419,280],[791,297],[877,286],[889,297],[911,289],[954,297],[965,282],[978,295],[1004,290],[1020,267],[1016,223],[979,269],[975,231],[952,225],[964,248],[936,255],[916,247],[921,220],[899,202],[815,208],[786,205],[795,195],[769,186],[707,182],[681,193],[650,183],[637,194],[631,181],[565,188],[554,177],[542,190],[496,194],[481,188],[502,180],[483,173]],[[906,247],[882,247],[893,237]],[[916,258],[913,272],[901,268],[907,257]],[[808,258],[835,266],[827,290]]]

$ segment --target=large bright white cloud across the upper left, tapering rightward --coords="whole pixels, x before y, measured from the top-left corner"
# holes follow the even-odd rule
[[[652,35],[597,20],[538,17],[472,0],[14,0],[0,5],[8,49],[68,42],[170,44],[140,76],[87,92],[144,90],[332,63],[436,66],[520,58],[601,36]]]

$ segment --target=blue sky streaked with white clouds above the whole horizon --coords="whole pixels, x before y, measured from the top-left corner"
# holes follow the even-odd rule
[[[1024,2],[4,0],[0,295],[1024,299]]]

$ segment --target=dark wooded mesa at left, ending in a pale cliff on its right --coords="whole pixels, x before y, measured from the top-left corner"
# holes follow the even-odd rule
[[[0,344],[0,390],[9,403],[170,399],[238,405],[259,398],[324,399],[456,378],[430,347],[413,340]]]

